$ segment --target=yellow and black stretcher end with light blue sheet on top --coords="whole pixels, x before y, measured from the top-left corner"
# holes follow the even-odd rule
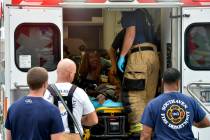
[[[127,115],[124,113],[121,102],[106,100],[104,104],[92,101],[99,118],[99,123],[85,130],[86,140],[100,139],[127,139]]]

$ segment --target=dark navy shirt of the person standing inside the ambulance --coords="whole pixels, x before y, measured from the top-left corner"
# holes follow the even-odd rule
[[[115,50],[121,51],[124,41],[124,36],[126,32],[126,28],[135,26],[136,27],[136,35],[133,42],[133,45],[150,42],[152,43],[154,40],[154,30],[152,25],[152,19],[146,11],[146,9],[137,9],[135,11],[126,11],[122,12],[121,25],[123,30],[121,30],[115,37],[112,48]],[[149,30],[144,30],[145,28],[151,28]],[[150,33],[148,33],[150,31]],[[145,33],[147,32],[147,33]]]

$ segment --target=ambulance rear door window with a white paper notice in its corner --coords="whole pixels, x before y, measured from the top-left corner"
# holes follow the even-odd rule
[[[56,69],[61,59],[60,30],[51,23],[23,23],[14,34],[15,64],[23,72],[31,67]]]

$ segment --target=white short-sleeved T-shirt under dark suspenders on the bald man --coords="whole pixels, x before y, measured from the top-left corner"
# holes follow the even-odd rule
[[[72,86],[70,83],[56,83],[55,84],[58,90],[60,91],[62,96],[68,96],[69,90]],[[51,93],[47,90],[44,94],[44,99],[47,101],[53,103],[54,99]],[[77,123],[79,124],[80,130],[83,132],[83,128],[81,125],[81,118],[83,115],[87,115],[89,113],[92,113],[95,111],[95,108],[93,104],[91,103],[88,95],[85,93],[85,91],[79,87],[76,88],[73,94],[72,98],[72,106],[73,106],[73,115],[77,120]],[[59,101],[58,107],[60,110],[60,115],[62,117],[63,125],[65,128],[65,132],[69,133],[69,126],[68,126],[68,118],[67,118],[67,111],[63,104]],[[77,128],[74,129],[76,133],[79,133],[77,131]]]

